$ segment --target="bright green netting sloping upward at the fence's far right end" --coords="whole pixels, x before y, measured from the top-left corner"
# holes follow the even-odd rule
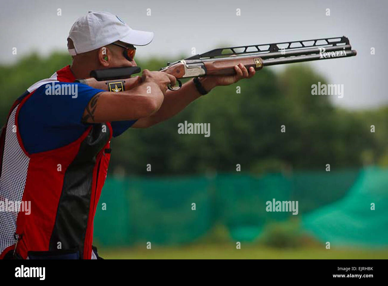
[[[331,246],[387,246],[388,170],[366,168],[345,197],[303,217],[303,226]]]

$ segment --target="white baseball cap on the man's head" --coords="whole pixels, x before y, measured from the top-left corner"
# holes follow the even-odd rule
[[[120,40],[134,46],[145,46],[154,38],[153,32],[131,29],[126,23],[109,12],[89,11],[75,21],[69,32],[74,49],[68,49],[69,54],[93,51]]]

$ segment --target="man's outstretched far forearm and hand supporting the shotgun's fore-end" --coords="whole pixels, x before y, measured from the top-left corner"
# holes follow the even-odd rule
[[[236,65],[234,69],[236,70],[235,75],[202,77],[199,81],[203,88],[209,92],[216,86],[234,84],[240,79],[251,78],[255,75],[255,69],[253,67],[249,69],[249,72],[242,64]],[[152,114],[152,116],[138,119],[132,127],[147,128],[161,121],[165,121],[182,111],[187,105],[201,96],[193,80],[188,81],[177,91],[167,91],[160,109]]]

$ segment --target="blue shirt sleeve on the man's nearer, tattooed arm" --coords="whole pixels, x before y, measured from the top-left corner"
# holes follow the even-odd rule
[[[58,85],[63,94],[55,94]],[[55,88],[43,84],[36,89],[19,111],[19,131],[26,151],[48,151],[78,139],[89,126],[81,123],[85,107],[101,91],[69,82],[55,82]]]

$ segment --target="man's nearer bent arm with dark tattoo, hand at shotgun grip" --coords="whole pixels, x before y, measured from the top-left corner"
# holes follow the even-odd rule
[[[83,113],[83,123],[125,121],[148,117],[159,110],[167,85],[175,77],[164,72],[143,70],[142,83],[123,92],[100,92],[90,99]],[[147,93],[147,91],[149,91]]]

